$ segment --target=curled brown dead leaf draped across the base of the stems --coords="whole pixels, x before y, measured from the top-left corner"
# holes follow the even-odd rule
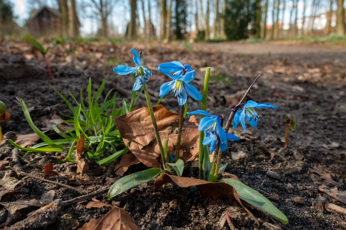
[[[180,186],[182,188],[196,186],[203,197],[211,198],[213,200],[224,197],[228,197],[228,199],[231,201],[236,200],[250,214],[250,216],[257,223],[257,225],[260,225],[260,223],[254,217],[254,215],[240,201],[237,191],[230,184],[220,182],[209,182],[196,178],[178,177],[167,173],[161,173],[160,176],[156,178],[154,182],[154,191],[156,191],[158,188],[160,188],[162,185],[168,182],[173,182],[177,186]]]

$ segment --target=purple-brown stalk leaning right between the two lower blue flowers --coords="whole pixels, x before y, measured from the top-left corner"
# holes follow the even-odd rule
[[[246,98],[247,94],[250,92],[252,86],[257,81],[257,79],[260,78],[260,77],[261,77],[261,74],[259,74],[257,76],[257,78],[252,82],[252,84],[250,85],[250,87],[247,89],[247,91],[245,92],[244,96],[242,97],[242,99],[240,99],[240,101],[237,104],[237,106],[232,108],[232,111],[229,114],[229,117],[227,119],[226,126],[225,126],[225,132],[226,133],[228,132],[229,127],[231,126],[233,118],[234,118],[236,112],[238,111],[239,107],[241,105],[243,105],[242,103],[243,103],[244,99]],[[217,176],[219,174],[220,162],[221,162],[221,157],[222,157],[222,151],[219,151],[219,148],[220,148],[220,139],[218,138],[218,140],[216,142],[216,147],[215,147],[214,155],[213,155],[213,163],[212,163],[211,170],[210,170],[210,176],[209,176],[209,181],[210,182],[216,182]]]

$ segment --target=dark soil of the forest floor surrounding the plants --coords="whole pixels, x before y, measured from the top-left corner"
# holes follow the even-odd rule
[[[28,56],[27,52],[20,48],[2,50],[0,100],[6,103],[8,112],[11,113],[10,120],[0,121],[3,133],[15,132],[8,134],[11,139],[15,139],[15,134],[26,134],[31,131],[21,111],[19,98],[25,100],[28,108],[32,107],[30,115],[39,128],[46,127],[43,122],[44,117],[50,118],[53,114],[60,115],[61,113],[71,115],[64,101],[49,84],[66,97],[69,96],[68,90],[77,96],[81,87],[86,89],[89,77],[92,80],[93,90],[97,90],[102,79],[107,77],[104,93],[114,88],[118,92],[118,97],[129,99],[132,88],[130,77],[117,76],[113,73],[111,70],[115,66],[107,62],[108,59],[105,57],[110,57],[112,60],[125,60],[125,64],[130,64],[132,61],[130,48],[143,50],[144,66],[153,70],[153,76],[147,84],[154,103],[158,100],[159,87],[167,81],[166,77],[156,71],[157,64],[172,60],[191,64],[197,70],[196,79],[192,83],[200,91],[204,68],[212,66],[207,110],[213,114],[223,113],[226,117],[231,107],[235,105],[227,99],[227,96],[247,89],[257,74],[262,73],[262,77],[257,81],[247,99],[271,103],[277,105],[278,108],[257,109],[256,111],[261,116],[258,127],[247,127],[246,136],[240,126],[233,130],[232,132],[237,136],[240,135],[242,139],[232,143],[229,141],[229,148],[223,154],[222,163],[229,163],[226,172],[235,174],[243,183],[261,192],[285,213],[289,219],[288,224],[282,224],[256,209],[251,209],[255,217],[260,218],[263,223],[258,227],[237,203],[230,203],[226,198],[215,201],[206,199],[201,197],[199,192],[190,192],[188,188],[180,188],[173,184],[167,184],[153,192],[151,187],[153,181],[120,194],[111,203],[125,208],[140,229],[229,229],[227,223],[223,227],[219,226],[219,220],[226,209],[229,210],[230,218],[237,229],[276,229],[268,223],[287,230],[346,229],[345,214],[335,211],[332,217],[325,218],[293,215],[295,211],[330,213],[333,210],[325,208],[328,203],[346,208],[345,203],[319,191],[321,185],[325,185],[327,189],[335,186],[326,183],[318,174],[309,171],[309,169],[315,169],[322,173],[330,173],[331,178],[339,183],[338,190],[346,190],[346,70],[344,65],[346,51],[344,48],[328,49],[321,46],[318,54],[314,46],[310,47],[314,50],[311,53],[294,52],[299,48],[292,47],[292,52],[287,48],[281,53],[268,54],[264,51],[258,54],[257,52],[256,54],[239,54],[242,52],[233,53],[230,50],[232,46],[237,46],[237,49],[241,50],[239,48],[242,46],[241,43],[214,45],[197,44],[191,51],[186,51],[183,48],[176,49],[174,46],[165,47],[160,44],[109,44],[106,47],[102,45],[103,48],[100,48],[100,44],[96,46],[97,49],[85,54],[85,57],[73,56],[74,61],[70,62],[64,56],[50,56],[51,62],[54,63],[52,70],[56,78],[55,82],[49,80],[45,63],[28,60],[22,56]],[[273,50],[280,49],[280,46],[275,44],[271,46]],[[256,49],[254,45],[251,47]],[[211,48],[213,48],[212,52]],[[243,48],[246,49],[246,44],[243,44]],[[304,49],[309,50],[309,47]],[[94,61],[90,58],[90,55],[99,52],[102,54],[100,60]],[[81,63],[84,64],[80,66]],[[239,99],[235,99],[237,100]],[[120,103],[121,100],[119,100]],[[165,97],[162,104],[172,112],[179,111],[175,98]],[[199,109],[199,105],[199,102],[188,99],[189,111]],[[146,104],[143,95],[136,108],[144,106]],[[285,115],[289,113],[293,113],[297,118],[297,129],[290,132],[289,148],[278,153],[284,145],[282,139],[285,133]],[[48,134],[52,138],[55,135],[53,132]],[[3,142],[0,145],[0,160],[11,161],[12,149],[8,140]],[[231,152],[238,151],[247,154],[242,159],[232,159]],[[271,153],[275,153],[272,160],[270,160]],[[27,173],[43,177],[44,165],[51,162],[59,175],[48,179],[90,192],[106,188],[120,178],[116,174],[109,173],[112,172],[113,164],[102,166],[92,164],[88,173],[81,175],[78,182],[69,181],[67,176],[75,174],[75,163],[56,164],[61,156],[65,157],[66,154],[67,152],[29,153],[21,160],[21,164]],[[24,155],[24,152],[20,151],[20,155]],[[146,167],[143,164],[137,164],[126,174],[144,169]],[[8,168],[0,171],[1,177],[4,173],[10,172],[9,170]],[[69,200],[81,195],[77,191],[56,184],[28,177],[23,178],[15,172],[10,173],[12,177],[25,182],[25,186],[20,189],[20,192],[1,198],[1,202],[16,202],[19,199],[39,200],[42,194],[49,190],[55,191],[54,199]],[[187,164],[183,176],[198,177],[198,169]],[[5,189],[2,188],[2,190]],[[108,202],[106,194],[97,199]],[[56,223],[47,229],[75,229],[92,218],[103,217],[108,212],[109,208],[86,209],[85,204],[89,201],[82,201],[64,208]],[[10,226],[25,218],[27,213],[35,209],[37,207],[28,207],[11,215],[2,208],[0,210],[2,227]]]

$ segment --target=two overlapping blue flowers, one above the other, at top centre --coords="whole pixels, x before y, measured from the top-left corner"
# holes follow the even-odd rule
[[[180,106],[183,106],[187,100],[187,94],[197,101],[202,100],[202,95],[196,87],[189,84],[194,79],[195,71],[191,66],[184,65],[179,61],[172,61],[158,65],[158,71],[165,73],[168,77],[173,78],[173,81],[166,82],[160,87],[160,95],[162,98],[168,92],[171,92],[171,97],[178,97]],[[174,72],[173,74],[169,72]]]

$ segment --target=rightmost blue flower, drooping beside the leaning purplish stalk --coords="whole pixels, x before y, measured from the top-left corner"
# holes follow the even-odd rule
[[[237,125],[242,123],[242,126],[244,128],[244,131],[246,132],[245,128],[245,117],[249,124],[253,127],[257,127],[257,118],[260,116],[257,115],[256,111],[253,108],[274,108],[276,109],[277,106],[272,106],[271,104],[268,103],[257,103],[255,101],[247,101],[246,104],[243,106],[243,109],[236,112],[233,120],[233,128],[236,128]]]

